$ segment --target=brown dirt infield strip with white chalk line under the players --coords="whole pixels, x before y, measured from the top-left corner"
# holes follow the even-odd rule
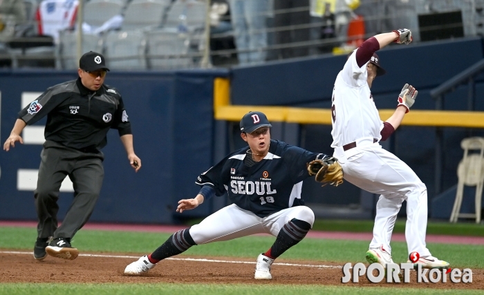
[[[206,256],[187,260],[187,256],[176,256],[158,263],[145,276],[132,277],[124,276],[124,267],[136,260],[138,254],[97,255],[82,254],[73,261],[48,256],[44,261],[36,261],[27,251],[0,249],[0,283],[244,283],[484,289],[484,269],[472,269],[472,283],[450,283],[448,278],[448,283],[416,283],[416,272],[412,271],[411,283],[375,284],[362,276],[360,283],[342,284],[338,263],[281,258],[272,266],[273,279],[267,281],[254,280],[254,260]]]

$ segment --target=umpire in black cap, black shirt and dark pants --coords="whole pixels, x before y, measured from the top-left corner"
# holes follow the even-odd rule
[[[47,116],[44,149],[35,189],[39,223],[34,258],[50,256],[73,260],[79,251],[71,239],[89,220],[100,194],[104,155],[109,129],[118,129],[129,164],[136,172],[141,160],[134,153],[131,123],[117,89],[104,85],[109,68],[100,53],[82,55],[79,78],[52,86],[20,111],[10,136],[3,144],[9,151],[15,142],[23,144],[20,133],[26,125]],[[62,225],[57,227],[59,189],[66,176],[74,184],[74,200]],[[49,238],[52,237],[50,240]]]

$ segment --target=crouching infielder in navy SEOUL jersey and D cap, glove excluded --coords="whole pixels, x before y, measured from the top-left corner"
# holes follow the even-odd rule
[[[194,209],[225,193],[233,204],[176,232],[153,253],[128,265],[124,274],[148,272],[160,260],[194,245],[265,233],[277,238],[257,258],[254,278],[270,280],[274,259],[306,236],[315,216],[301,200],[302,181],[310,176],[309,162],[328,156],[271,140],[271,124],[261,112],[245,114],[240,126],[241,137],[249,146],[230,153],[199,175],[196,184],[201,191],[194,199],[180,200],[176,211]]]

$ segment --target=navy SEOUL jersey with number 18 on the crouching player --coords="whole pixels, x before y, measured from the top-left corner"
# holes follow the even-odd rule
[[[324,158],[297,146],[270,140],[269,153],[263,160],[248,167],[249,147],[227,155],[208,171],[198,176],[196,184],[209,185],[216,196],[225,192],[234,204],[259,217],[304,204],[302,181],[309,177],[307,163]]]

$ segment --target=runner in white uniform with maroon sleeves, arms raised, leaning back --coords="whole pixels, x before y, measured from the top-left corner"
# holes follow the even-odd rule
[[[337,75],[333,89],[333,144],[334,156],[344,171],[344,179],[371,193],[380,194],[376,207],[373,240],[366,260],[381,263],[391,260],[391,233],[402,202],[407,200],[405,238],[409,254],[417,251],[416,262],[427,268],[445,268],[449,263],[431,256],[425,244],[427,229],[427,187],[416,173],[395,155],[378,144],[386,140],[400,126],[405,113],[417,96],[417,91],[406,84],[398,98],[395,113],[386,121],[380,120],[371,95],[371,84],[385,70],[375,51],[395,41],[409,44],[407,29],[376,35],[366,40],[348,57]]]

